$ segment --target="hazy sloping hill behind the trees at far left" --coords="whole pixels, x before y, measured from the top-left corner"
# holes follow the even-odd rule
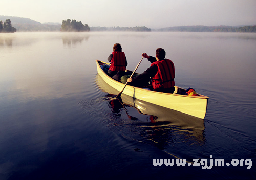
[[[17,32],[34,32],[34,31],[60,31],[61,24],[41,24],[40,22],[31,20],[24,17],[14,17],[14,16],[1,16],[0,20],[5,22],[6,19],[11,20],[11,24],[17,29]]]

